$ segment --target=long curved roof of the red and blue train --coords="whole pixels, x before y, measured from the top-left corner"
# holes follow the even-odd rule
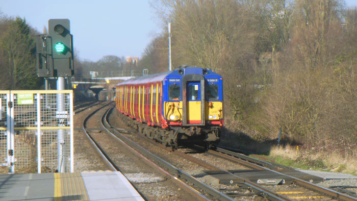
[[[124,85],[124,84],[143,84],[143,83],[150,83],[150,82],[160,82],[167,78],[182,77],[185,74],[202,74],[205,77],[207,76],[207,77],[221,78],[219,74],[213,72],[211,69],[208,68],[180,66],[179,68],[171,71],[132,78],[130,80],[126,80],[124,82],[118,83],[117,86]]]

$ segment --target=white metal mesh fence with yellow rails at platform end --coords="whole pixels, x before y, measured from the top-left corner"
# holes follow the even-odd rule
[[[73,172],[72,90],[0,91],[0,168]]]

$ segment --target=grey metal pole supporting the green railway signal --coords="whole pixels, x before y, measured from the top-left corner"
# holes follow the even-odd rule
[[[64,90],[64,78],[59,77],[57,78],[57,90]],[[59,114],[64,111],[64,93],[57,93],[57,111]],[[60,122],[58,122],[60,123]],[[65,172],[65,162],[64,159],[64,130],[58,129],[57,130],[57,150],[58,150],[58,172]]]

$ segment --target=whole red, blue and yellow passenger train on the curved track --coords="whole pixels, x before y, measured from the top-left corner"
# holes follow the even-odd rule
[[[209,68],[174,70],[120,82],[116,109],[128,124],[173,149],[182,143],[216,146],[223,125],[223,80]]]

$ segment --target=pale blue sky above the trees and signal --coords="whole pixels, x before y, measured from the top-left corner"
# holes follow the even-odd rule
[[[357,0],[346,5],[357,6]],[[40,33],[48,19],[69,19],[74,49],[82,60],[140,57],[161,31],[148,0],[0,0],[0,12],[24,17]]]

